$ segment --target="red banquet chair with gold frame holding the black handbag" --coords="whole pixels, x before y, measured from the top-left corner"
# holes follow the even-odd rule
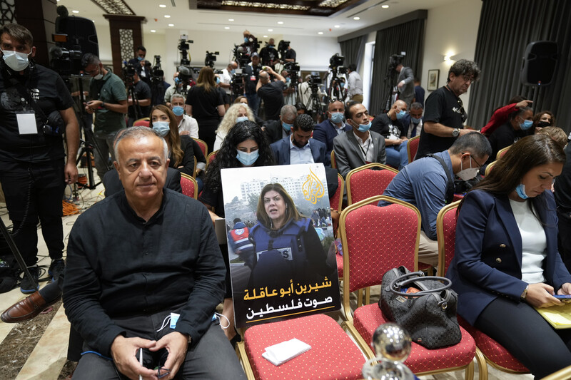
[[[375,203],[385,200],[393,204],[376,207],[369,204],[371,199]],[[373,333],[380,324],[389,321],[378,304],[369,304],[368,294],[364,303],[358,299],[353,311],[350,292],[380,285],[383,274],[400,265],[417,270],[420,212],[407,202],[378,195],[345,208],[340,217],[340,232],[343,241],[343,310],[346,319],[343,327],[353,335],[365,354],[373,358]],[[476,345],[465,329],[460,327],[460,331],[460,343],[442,349],[426,349],[413,342],[405,364],[417,376],[465,369],[465,379],[473,379]]]

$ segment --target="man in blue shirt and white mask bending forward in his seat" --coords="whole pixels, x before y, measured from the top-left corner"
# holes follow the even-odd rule
[[[492,154],[487,138],[468,133],[458,138],[448,150],[415,160],[393,178],[383,195],[404,200],[420,211],[422,230],[418,261],[438,265],[436,217],[453,195],[454,175],[470,180]],[[380,206],[385,205],[379,202]]]

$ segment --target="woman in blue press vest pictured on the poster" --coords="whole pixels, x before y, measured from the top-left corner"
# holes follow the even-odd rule
[[[300,215],[282,185],[263,187],[256,215],[249,287],[288,287],[293,278],[310,283],[336,270],[335,252],[323,249],[313,220]]]

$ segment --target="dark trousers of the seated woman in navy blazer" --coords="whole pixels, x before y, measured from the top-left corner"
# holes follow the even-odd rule
[[[571,365],[571,329],[556,330],[533,307],[497,297],[475,327],[495,339],[542,379]]]

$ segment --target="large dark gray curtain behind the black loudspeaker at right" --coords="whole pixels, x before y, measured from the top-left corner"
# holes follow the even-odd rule
[[[482,128],[495,108],[517,94],[534,101],[535,112],[555,113],[557,126],[571,129],[571,1],[483,0],[475,61],[480,81],[470,91],[467,125]],[[528,43],[555,41],[559,60],[549,86],[523,86],[522,58]]]

